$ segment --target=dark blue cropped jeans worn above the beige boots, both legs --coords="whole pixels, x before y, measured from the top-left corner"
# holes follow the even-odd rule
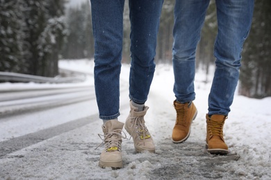
[[[120,116],[124,0],[90,0],[95,37],[95,92],[99,118]],[[129,97],[144,103],[154,76],[156,37],[163,0],[130,0]]]

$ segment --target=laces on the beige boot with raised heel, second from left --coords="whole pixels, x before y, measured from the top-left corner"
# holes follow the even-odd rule
[[[139,138],[142,139],[144,143],[145,143],[146,138],[151,137],[151,135],[149,134],[149,130],[147,129],[147,127],[144,123],[143,116],[132,117],[131,118],[131,127],[129,127],[129,129],[131,129],[131,128],[133,128],[133,132],[136,131]],[[133,132],[131,134],[133,134]],[[130,139],[131,139],[131,136],[130,136],[129,140]]]

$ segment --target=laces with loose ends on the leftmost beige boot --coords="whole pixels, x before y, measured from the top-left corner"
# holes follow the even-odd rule
[[[124,133],[124,136],[122,136],[122,132]],[[108,132],[106,134],[98,134],[99,138],[101,138],[102,142],[99,144],[95,150],[97,150],[98,147],[100,147],[102,144],[105,144],[106,152],[115,152],[115,151],[122,151],[122,140],[119,139],[119,137],[127,139],[126,134],[122,129],[115,129],[112,132]],[[102,138],[104,136],[104,138]]]

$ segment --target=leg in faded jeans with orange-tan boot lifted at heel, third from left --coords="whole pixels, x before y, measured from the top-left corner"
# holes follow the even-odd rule
[[[195,100],[195,56],[208,5],[208,0],[176,0],[175,4],[172,48],[176,97],[176,123],[172,131],[174,143],[186,141],[192,120],[197,116],[192,102]]]

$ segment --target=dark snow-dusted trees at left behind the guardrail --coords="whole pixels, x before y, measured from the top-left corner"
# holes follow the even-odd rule
[[[58,75],[65,0],[0,0],[0,71]]]

